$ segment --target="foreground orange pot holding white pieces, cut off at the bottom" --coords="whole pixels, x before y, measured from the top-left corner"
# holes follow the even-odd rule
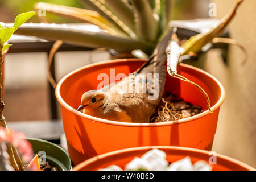
[[[85,160],[75,166],[73,171],[97,171],[98,169],[106,168],[113,164],[124,168],[127,163],[135,158],[135,156],[141,157],[147,151],[152,150],[152,148],[158,148],[159,150],[166,152],[167,161],[171,163],[189,156],[192,163],[199,160],[204,160],[207,163],[210,162],[213,171],[255,171],[255,168],[225,155],[214,154],[215,159],[213,161],[211,160],[213,154],[209,151],[170,146],[137,147],[109,152]]]

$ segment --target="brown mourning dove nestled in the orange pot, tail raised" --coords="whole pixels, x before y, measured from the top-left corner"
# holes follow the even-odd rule
[[[150,59],[133,74],[100,90],[85,92],[77,110],[102,119],[148,123],[155,112],[166,82],[166,48],[170,30]]]

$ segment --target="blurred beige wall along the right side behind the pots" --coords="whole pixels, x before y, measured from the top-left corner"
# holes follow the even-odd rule
[[[217,17],[224,16],[234,0],[213,0]],[[231,38],[247,50],[249,59],[245,66],[242,51],[230,46],[228,64],[220,51],[207,54],[205,69],[216,76],[226,89],[226,100],[221,107],[213,150],[256,167],[256,1],[245,0],[230,23]]]

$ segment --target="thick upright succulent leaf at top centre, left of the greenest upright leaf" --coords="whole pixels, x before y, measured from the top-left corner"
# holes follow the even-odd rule
[[[159,26],[147,0],[131,0],[136,13],[137,32],[141,38],[154,41],[158,38]]]

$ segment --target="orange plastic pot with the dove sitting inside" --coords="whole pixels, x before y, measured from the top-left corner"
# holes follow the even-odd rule
[[[56,97],[61,105],[68,151],[75,165],[99,154],[131,147],[182,146],[210,150],[225,90],[216,78],[190,65],[180,64],[178,71],[208,93],[213,114],[207,110],[207,101],[200,90],[170,76],[167,76],[165,92],[203,107],[203,113],[173,122],[126,123],[92,117],[76,110],[82,94],[97,89],[102,82],[97,80],[100,73],[106,73],[110,82],[114,82],[117,81],[115,75],[128,75],[144,61],[119,59],[91,64],[69,73],[57,85]],[[115,73],[112,70],[110,75],[110,69]]]

